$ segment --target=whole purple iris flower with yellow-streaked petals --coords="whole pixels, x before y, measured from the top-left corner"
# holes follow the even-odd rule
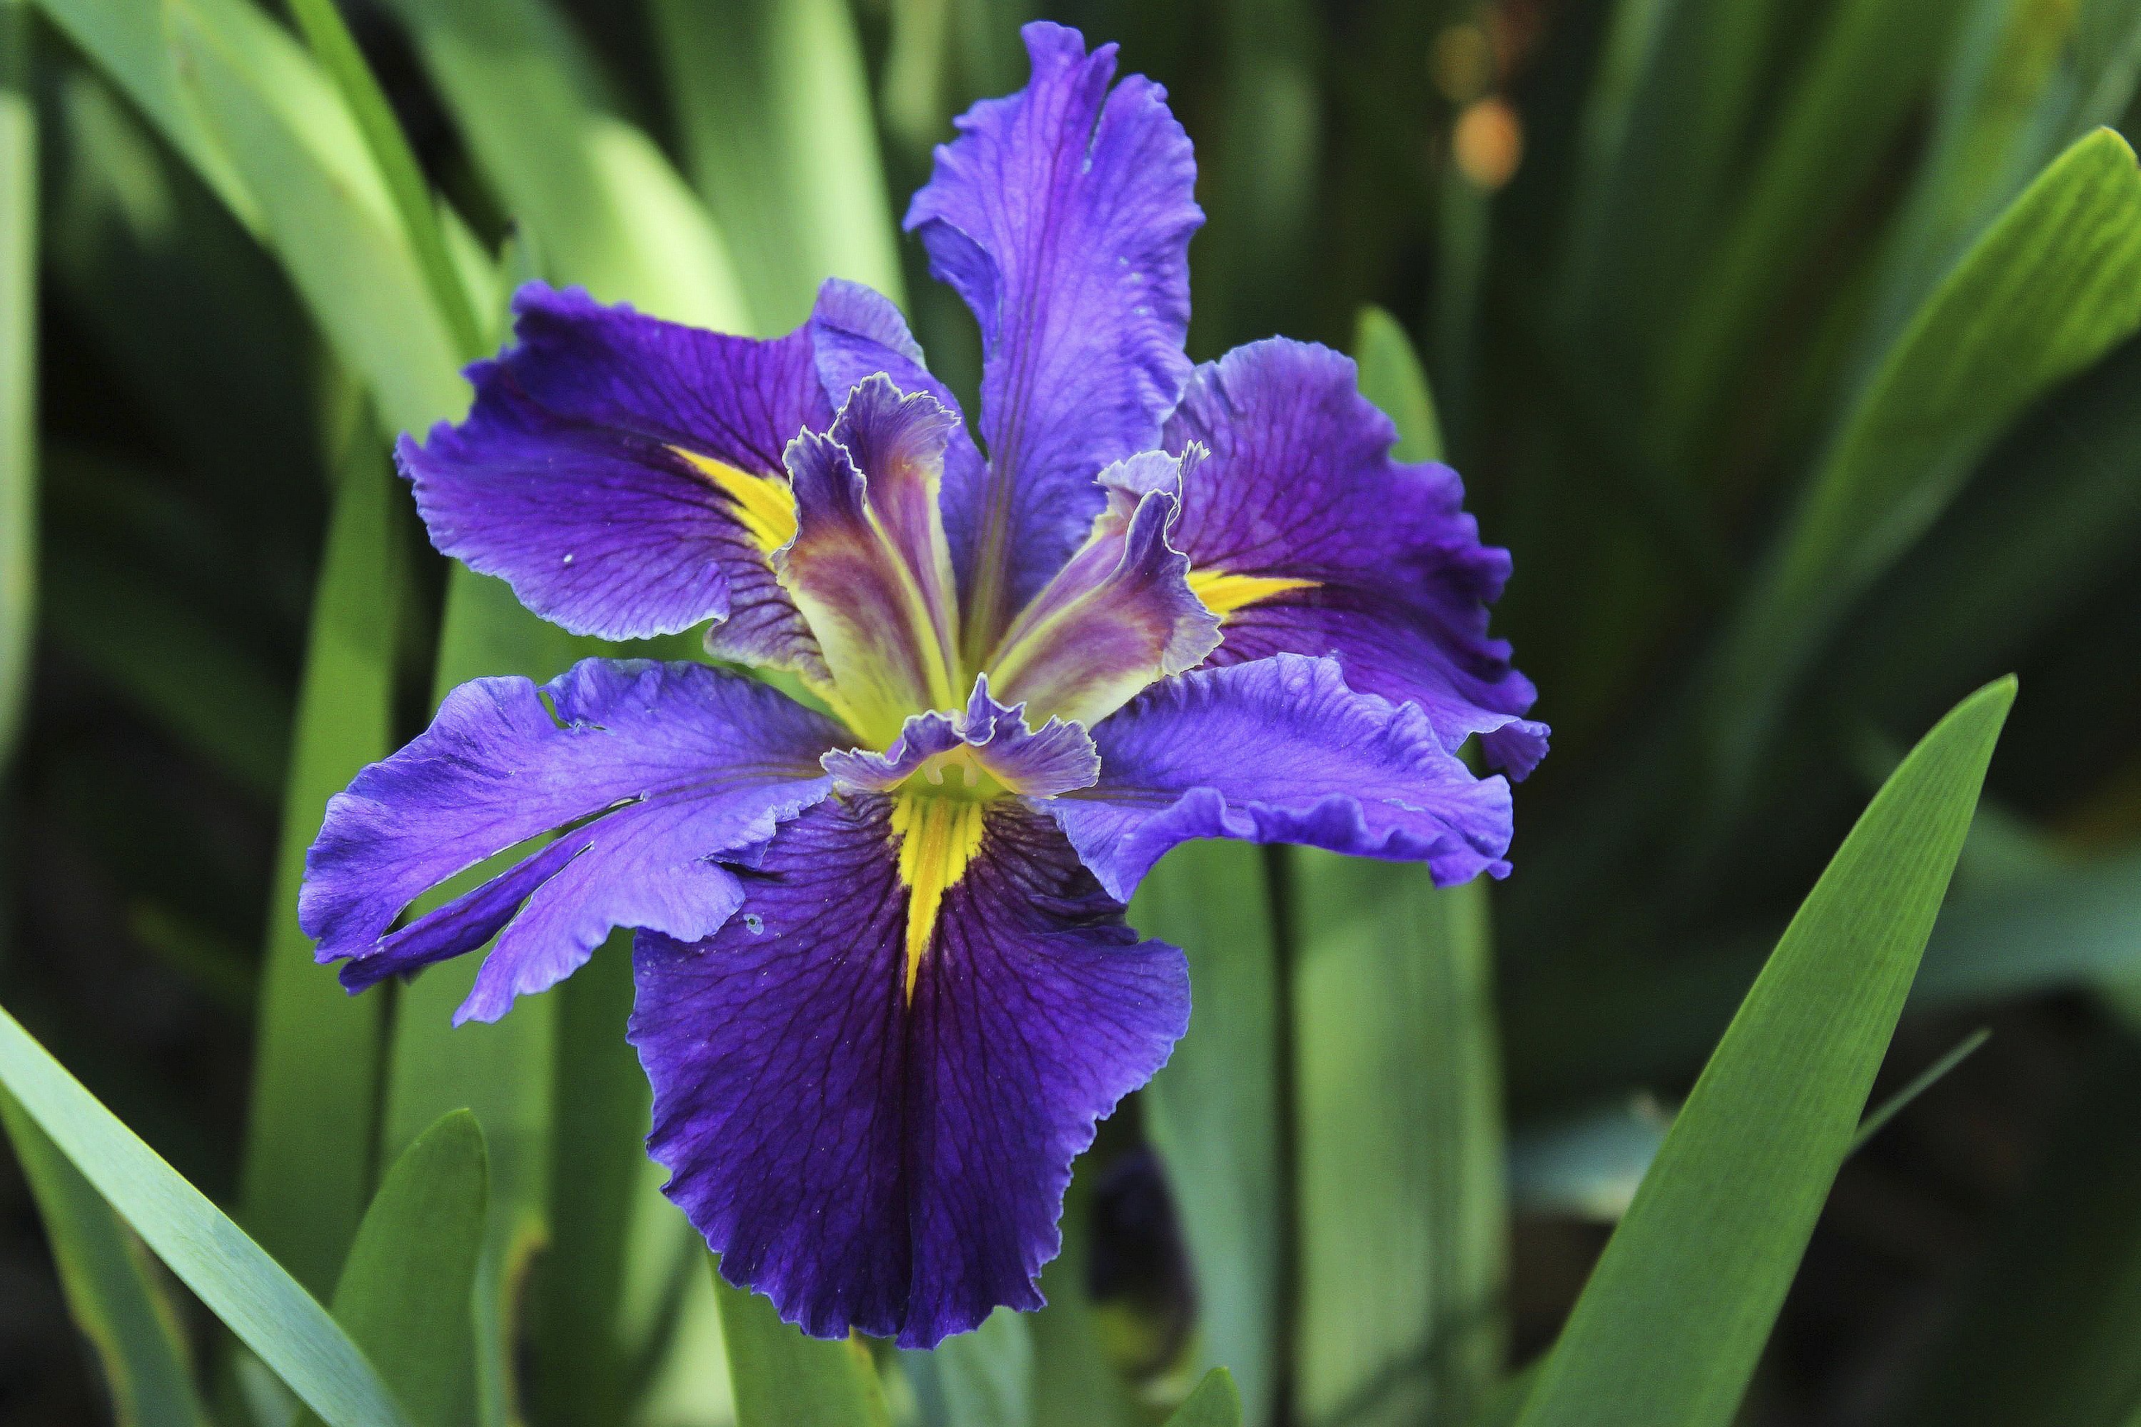
[[[1182,952],[1124,924],[1169,847],[1499,877],[1509,783],[1456,749],[1518,779],[1546,751],[1456,473],[1394,462],[1330,349],[1190,366],[1165,90],[1075,30],[1026,45],[906,216],[981,323],[974,432],[852,282],[775,340],[529,285],[469,417],[398,447],[437,548],[535,614],[711,620],[829,712],[700,663],[480,678],[306,860],[351,991],[490,946],[460,1018],[634,929],[666,1192],[820,1337],[1041,1305],[1070,1160],[1188,1027]]]

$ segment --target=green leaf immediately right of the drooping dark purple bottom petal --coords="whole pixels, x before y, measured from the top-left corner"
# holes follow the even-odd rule
[[[1130,924],[1190,958],[1188,1033],[1143,1093],[1145,1132],[1197,1277],[1197,1350],[1229,1365],[1250,1423],[1272,1410],[1280,1350],[1278,943],[1261,847],[1175,847],[1130,903]]]

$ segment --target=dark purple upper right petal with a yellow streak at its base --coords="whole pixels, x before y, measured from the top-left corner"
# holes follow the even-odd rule
[[[1531,772],[1546,725],[1520,717],[1531,680],[1486,631],[1509,552],[1479,543],[1456,471],[1390,458],[1396,428],[1353,362],[1285,338],[1237,347],[1197,368],[1167,421],[1169,449],[1193,441],[1212,456],[1184,475],[1169,537],[1193,584],[1233,580],[1203,586],[1225,614],[1212,663],[1332,655],[1355,689],[1419,704],[1449,747],[1482,734],[1494,764]]]

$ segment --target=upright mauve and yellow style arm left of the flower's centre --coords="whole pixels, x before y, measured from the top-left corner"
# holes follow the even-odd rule
[[[927,392],[867,377],[829,434],[788,445],[794,537],[773,552],[781,586],[818,640],[826,697],[869,740],[891,740],[951,682],[951,561],[936,516],[955,426]]]

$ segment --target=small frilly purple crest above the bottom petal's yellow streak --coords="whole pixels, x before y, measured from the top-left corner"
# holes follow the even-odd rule
[[[963,715],[914,715],[884,753],[846,749],[826,753],[820,762],[833,774],[833,787],[844,794],[886,794],[953,749],[972,749],[983,772],[1028,798],[1090,787],[1100,774],[1100,755],[1083,727],[1062,719],[1028,727],[1026,706],[998,704],[987,678],[974,680]],[[953,774],[940,774],[940,781],[942,777]]]

